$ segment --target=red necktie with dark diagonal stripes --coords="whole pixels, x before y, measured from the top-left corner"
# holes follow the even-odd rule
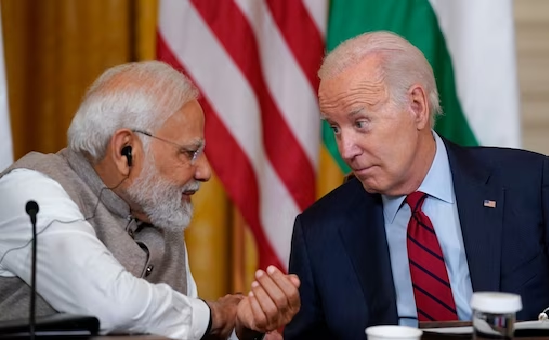
[[[408,222],[408,260],[419,321],[457,320],[442,249],[431,219],[421,210],[427,194],[416,191],[406,197],[412,216]]]

